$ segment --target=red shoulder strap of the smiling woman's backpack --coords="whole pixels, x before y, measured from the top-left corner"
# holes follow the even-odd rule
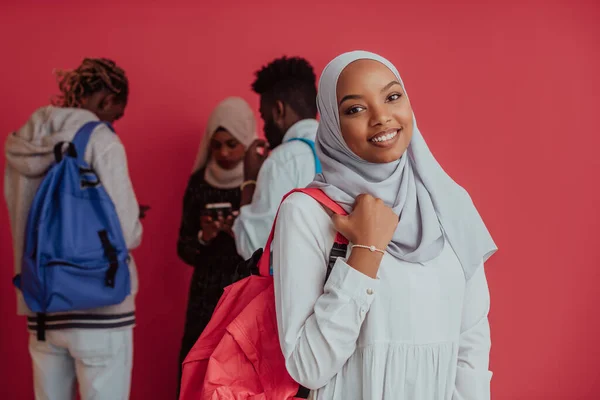
[[[281,203],[283,203],[284,200],[287,199],[292,193],[304,193],[317,200],[322,206],[328,208],[335,214],[348,215],[348,213],[339,204],[331,200],[321,189],[317,188],[294,189],[285,196],[283,196]],[[277,215],[278,214],[279,210],[277,211]],[[262,276],[271,275],[271,243],[273,242],[273,236],[275,235],[275,224],[277,223],[277,215],[275,216],[275,220],[273,221],[273,227],[271,228],[271,233],[269,234],[269,238],[267,239],[267,244],[265,245],[262,257],[258,262],[258,271]],[[335,241],[329,257],[329,264],[327,265],[327,277],[329,277],[329,273],[331,272],[331,268],[333,268],[333,263],[335,263],[335,259],[337,259],[337,257],[345,256],[347,248],[348,239],[346,239],[341,233],[338,232],[335,235]]]

